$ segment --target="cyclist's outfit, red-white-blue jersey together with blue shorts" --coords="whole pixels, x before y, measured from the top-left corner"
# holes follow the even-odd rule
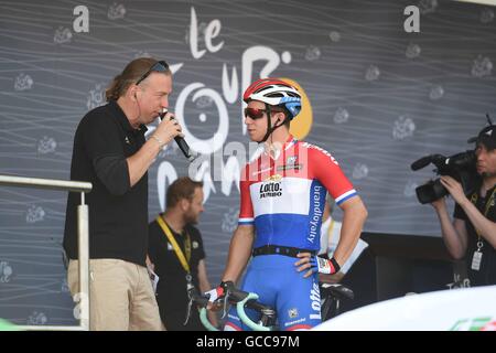
[[[238,224],[255,226],[255,248],[279,245],[317,252],[326,192],[341,204],[356,191],[336,160],[316,146],[290,136],[277,154],[263,152],[245,167]],[[241,286],[277,310],[281,330],[321,322],[317,275],[303,278],[305,271],[296,271],[296,261],[283,255],[254,257]],[[256,312],[247,314],[258,320]],[[226,330],[241,329],[247,328],[233,309]]]

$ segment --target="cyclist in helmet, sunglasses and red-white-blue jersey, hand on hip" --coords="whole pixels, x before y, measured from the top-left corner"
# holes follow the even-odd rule
[[[238,227],[230,240],[222,284],[211,301],[236,282],[252,255],[241,289],[276,308],[280,330],[306,330],[321,322],[317,272],[335,274],[352,254],[367,211],[335,159],[291,136],[301,110],[296,88],[276,78],[252,83],[244,94],[245,124],[263,151],[241,172]],[[334,257],[316,257],[326,193],[343,210]],[[256,312],[249,312],[256,315]],[[225,330],[244,330],[231,309]]]

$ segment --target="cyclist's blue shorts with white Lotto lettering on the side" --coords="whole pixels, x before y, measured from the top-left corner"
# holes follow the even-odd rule
[[[306,270],[296,271],[298,260],[282,255],[254,257],[241,286],[241,290],[257,293],[261,303],[276,309],[281,331],[309,330],[321,323],[317,275],[303,278]],[[255,322],[260,319],[254,310],[246,309],[246,313]],[[236,307],[229,311],[225,330],[249,330]]]

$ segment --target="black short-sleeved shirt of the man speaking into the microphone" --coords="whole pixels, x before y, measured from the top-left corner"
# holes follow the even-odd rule
[[[90,110],[74,137],[71,180],[93,183],[89,207],[89,257],[118,258],[144,266],[148,249],[148,174],[130,186],[126,159],[145,142],[147,128],[133,129],[116,101]],[[69,193],[64,249],[77,254],[79,193]]]

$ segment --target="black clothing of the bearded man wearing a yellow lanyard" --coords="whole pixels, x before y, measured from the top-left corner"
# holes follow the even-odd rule
[[[193,285],[200,291],[198,264],[200,260],[205,258],[202,235],[192,225],[185,226],[183,234],[176,234],[171,227],[169,228],[185,256],[186,236],[190,236],[190,269]],[[157,301],[159,303],[160,317],[165,328],[168,330],[203,329],[200,324],[198,311],[195,307],[192,308],[192,321],[190,325],[183,327],[187,308],[186,271],[157,220],[150,223],[149,226],[148,255],[154,264],[154,270],[160,278],[157,286]]]

